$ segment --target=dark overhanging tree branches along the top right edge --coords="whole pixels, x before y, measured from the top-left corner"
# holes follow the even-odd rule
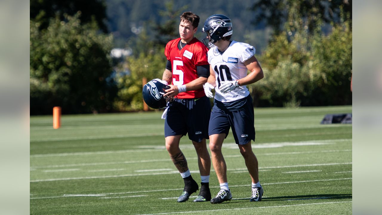
[[[254,23],[265,22],[272,26],[275,34],[283,31],[284,23],[288,20],[291,7],[298,7],[301,18],[305,20],[310,31],[324,23],[340,23],[341,10],[349,13],[351,20],[351,0],[256,0],[251,10],[254,13]],[[347,21],[347,20],[345,20]]]

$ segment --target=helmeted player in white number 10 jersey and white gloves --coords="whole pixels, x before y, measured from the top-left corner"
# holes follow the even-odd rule
[[[209,98],[214,98],[214,107],[209,122],[210,150],[212,164],[220,183],[220,191],[210,202],[221,203],[232,198],[227,180],[227,166],[222,154],[223,140],[230,128],[236,144],[243,155],[252,179],[250,201],[261,201],[264,192],[259,181],[257,158],[251,147],[255,140],[254,111],[252,97],[246,85],[255,83],[264,77],[255,48],[249,44],[231,41],[231,20],[221,14],[212,15],[204,23],[203,40],[208,51],[210,76],[204,84]],[[247,75],[247,71],[249,74]]]

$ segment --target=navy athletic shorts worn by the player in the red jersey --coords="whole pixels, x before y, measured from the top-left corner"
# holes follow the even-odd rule
[[[207,96],[196,99],[174,99],[167,110],[165,137],[183,135],[201,142],[208,137],[211,104]]]

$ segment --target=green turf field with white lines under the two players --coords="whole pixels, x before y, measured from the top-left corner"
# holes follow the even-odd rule
[[[256,108],[261,202],[249,202],[251,179],[232,135],[223,143],[233,199],[176,202],[183,179],[165,149],[162,112],[64,115],[30,120],[31,214],[351,214],[352,126],[320,125],[351,106]],[[208,140],[207,140],[208,143]],[[181,150],[200,185],[196,152]],[[211,167],[212,195],[219,182]]]

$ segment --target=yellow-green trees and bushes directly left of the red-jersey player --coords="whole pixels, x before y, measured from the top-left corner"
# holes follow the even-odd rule
[[[133,55],[126,58],[120,65],[115,81],[118,85],[118,98],[115,99],[114,108],[118,111],[136,111],[143,108],[142,78],[150,81],[154,78],[162,79],[165,69],[166,57],[164,47],[168,41],[179,37],[179,16],[185,7],[174,9],[173,1],[166,3],[166,10],[160,11],[164,24],[143,24],[142,31],[137,37],[129,39],[127,45],[133,50]],[[154,25],[154,39],[148,35],[147,26]],[[152,31],[149,31],[152,33]],[[146,84],[146,83],[145,83]]]

